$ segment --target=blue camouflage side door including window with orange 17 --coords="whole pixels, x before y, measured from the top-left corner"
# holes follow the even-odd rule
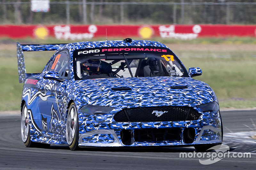
[[[70,81],[70,58],[67,50],[56,53],[47,63],[45,71],[57,71],[62,81],[41,79],[41,92],[45,98],[38,99],[42,126],[45,131],[64,134],[67,83]]]

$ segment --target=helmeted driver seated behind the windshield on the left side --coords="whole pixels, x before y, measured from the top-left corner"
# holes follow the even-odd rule
[[[99,75],[107,74],[112,72],[112,67],[109,63],[101,60],[86,60],[82,63],[81,68],[84,74]]]

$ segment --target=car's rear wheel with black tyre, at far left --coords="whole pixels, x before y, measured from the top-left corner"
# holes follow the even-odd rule
[[[48,148],[50,144],[36,143],[31,141],[30,137],[30,120],[26,104],[23,104],[21,111],[21,139],[26,147]]]

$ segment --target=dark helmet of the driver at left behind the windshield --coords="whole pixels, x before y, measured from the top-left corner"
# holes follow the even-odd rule
[[[85,73],[89,75],[100,74],[101,71],[101,62],[100,60],[87,60],[82,63],[82,69]]]

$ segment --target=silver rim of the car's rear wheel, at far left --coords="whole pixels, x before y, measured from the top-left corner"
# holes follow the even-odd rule
[[[21,138],[23,142],[26,142],[28,139],[28,131],[29,131],[28,109],[25,106],[21,112]]]

